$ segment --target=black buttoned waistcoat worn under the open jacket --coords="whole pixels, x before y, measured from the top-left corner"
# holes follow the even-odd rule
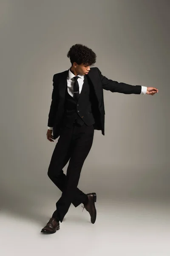
[[[77,122],[79,125],[83,125],[84,123],[88,126],[93,125],[95,123],[93,115],[94,99],[93,86],[86,76],[77,101],[68,93],[68,88],[66,87],[65,111],[62,124],[67,127],[73,125],[73,122]]]

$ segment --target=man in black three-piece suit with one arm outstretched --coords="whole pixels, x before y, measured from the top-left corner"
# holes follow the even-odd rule
[[[96,221],[96,193],[85,194],[78,189],[80,172],[91,149],[94,130],[105,135],[105,109],[103,89],[125,94],[154,95],[154,87],[119,83],[102,75],[97,67],[96,54],[82,44],[73,45],[68,54],[71,68],[53,77],[53,92],[48,115],[47,139],[58,142],[54,148],[48,168],[48,177],[62,191],[56,203],[56,210],[41,230],[55,233],[59,230],[71,203],[77,207],[84,204],[91,223]],[[52,135],[53,132],[53,135]],[[53,140],[52,140],[53,139]],[[64,166],[68,163],[66,175]]]

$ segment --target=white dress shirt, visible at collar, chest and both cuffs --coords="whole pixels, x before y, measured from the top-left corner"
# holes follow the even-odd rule
[[[70,71],[68,71],[68,77],[67,77],[67,90],[68,93],[73,97],[73,85],[74,85],[74,74]],[[82,85],[84,83],[84,78],[85,76],[83,75],[77,75],[79,78],[77,79],[78,83],[79,83],[79,93],[81,93],[82,90]],[[141,94],[144,95],[147,92],[147,87],[146,86],[142,86],[142,90],[141,90]],[[49,130],[52,130],[53,127],[48,127]]]

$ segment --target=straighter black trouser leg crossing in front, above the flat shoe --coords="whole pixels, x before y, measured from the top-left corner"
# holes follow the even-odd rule
[[[75,126],[73,131],[73,140],[71,143],[71,158],[69,161],[65,186],[61,198],[56,203],[54,218],[59,218],[62,222],[65,214],[76,196],[77,185],[83,163],[91,149],[94,137],[94,126]],[[79,202],[81,204],[81,201]]]

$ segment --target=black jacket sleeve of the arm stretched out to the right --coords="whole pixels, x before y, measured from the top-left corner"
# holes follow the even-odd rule
[[[102,81],[102,87],[105,90],[110,90],[112,93],[125,93],[125,94],[140,94],[142,90],[141,85],[130,85],[125,83],[119,83],[103,76],[101,71],[97,68],[100,79]]]

